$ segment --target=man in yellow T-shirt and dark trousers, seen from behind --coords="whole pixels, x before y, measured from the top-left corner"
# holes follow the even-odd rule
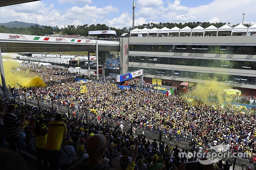
[[[60,164],[60,144],[67,138],[66,124],[62,122],[62,116],[57,114],[49,125],[47,142],[45,145],[46,162],[50,163],[50,170],[58,170]]]

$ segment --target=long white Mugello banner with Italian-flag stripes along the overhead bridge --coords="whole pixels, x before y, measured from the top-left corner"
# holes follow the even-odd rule
[[[96,40],[90,39],[76,39],[76,38],[63,38],[63,37],[46,37],[46,36],[35,36],[35,35],[21,35],[21,34],[10,34],[0,33],[0,40],[2,41],[19,41],[19,42],[59,42],[59,43],[82,43],[82,44],[96,44]],[[115,44],[119,45],[118,41],[102,41],[97,40],[98,44]]]

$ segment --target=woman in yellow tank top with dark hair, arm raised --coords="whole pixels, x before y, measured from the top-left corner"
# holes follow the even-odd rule
[[[50,122],[49,122],[50,123]],[[48,133],[48,125],[46,125],[46,127],[44,128],[44,119],[42,117],[37,118],[36,120],[36,127],[34,128],[34,134],[36,137],[36,156],[37,156],[37,160],[36,160],[36,165],[37,165],[37,169],[41,170],[41,161],[42,159],[45,160],[44,158],[44,148],[45,148],[45,144],[47,141],[47,133]],[[44,161],[44,166],[43,169],[47,168],[47,161]]]

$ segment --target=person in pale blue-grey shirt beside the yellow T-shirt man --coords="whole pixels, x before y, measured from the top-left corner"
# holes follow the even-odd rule
[[[68,140],[62,141],[60,148],[60,169],[68,170],[73,164],[73,156],[76,153],[73,146],[68,145]]]

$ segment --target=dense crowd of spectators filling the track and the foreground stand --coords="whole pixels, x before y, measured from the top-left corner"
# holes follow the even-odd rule
[[[29,74],[42,74],[41,71],[44,69],[46,68],[41,67],[40,70],[38,70],[38,68],[29,68],[28,72]],[[28,72],[26,74],[28,74]],[[57,74],[62,74],[63,70],[52,69],[49,71],[49,73],[48,71],[45,71],[43,75],[50,75],[44,77],[48,79],[46,81],[49,81],[51,75],[55,74],[56,72]],[[69,75],[64,73],[63,77],[69,77]],[[86,76],[84,78],[88,80],[95,79],[95,77]],[[86,108],[93,113],[92,115],[94,116],[89,119],[90,122],[85,122],[84,119],[78,119],[76,116],[67,117],[66,115],[63,115],[63,118],[60,118],[61,115],[56,116],[55,113],[53,113],[51,110],[24,105],[22,103],[17,106],[16,104],[18,103],[15,103],[15,101],[13,100],[2,100],[3,109],[0,110],[3,113],[1,114],[3,116],[5,115],[4,112],[8,112],[8,115],[12,114],[20,116],[22,121],[16,119],[14,116],[12,117],[14,120],[17,121],[15,123],[16,127],[23,127],[21,129],[25,129],[25,127],[23,126],[24,124],[22,123],[25,122],[26,124],[31,126],[28,127],[28,129],[31,129],[32,127],[37,127],[40,129],[40,134],[36,132],[36,130],[34,131],[35,134],[37,133],[36,140],[38,141],[39,137],[39,141],[40,139],[42,139],[45,145],[44,143],[41,143],[41,145],[35,144],[34,149],[39,151],[37,152],[37,154],[39,153],[39,155],[37,156],[41,159],[46,160],[44,155],[48,155],[48,158],[52,158],[53,155],[56,156],[52,159],[49,159],[50,164],[54,165],[51,166],[52,169],[57,168],[59,163],[60,167],[62,167],[63,169],[68,166],[72,168],[71,165],[73,164],[73,161],[72,163],[70,163],[68,161],[65,162],[61,160],[63,157],[59,155],[60,152],[64,155],[65,153],[67,154],[67,157],[64,157],[65,159],[67,159],[68,156],[71,155],[72,159],[75,158],[74,160],[76,160],[79,159],[82,155],[81,157],[83,157],[85,161],[88,161],[86,167],[96,166],[92,163],[92,160],[90,160],[90,155],[92,155],[91,158],[97,157],[94,154],[98,154],[97,158],[99,158],[99,155],[101,155],[100,158],[103,159],[101,161],[98,160],[97,162],[99,164],[97,165],[100,165],[100,167],[102,166],[102,169],[108,169],[107,166],[102,164],[103,162],[107,162],[109,166],[116,166],[116,164],[113,165],[113,157],[119,157],[120,155],[124,156],[124,158],[121,158],[122,162],[129,162],[129,160],[134,160],[134,153],[132,154],[132,151],[136,151],[137,145],[140,147],[140,150],[138,152],[139,155],[137,156],[137,158],[135,158],[136,161],[131,162],[130,166],[137,164],[138,166],[142,167],[143,162],[147,163],[147,161],[150,165],[152,159],[152,165],[154,166],[164,166],[164,164],[165,166],[168,165],[169,167],[172,166],[172,164],[176,166],[180,165],[180,157],[177,157],[177,155],[173,158],[171,155],[168,155],[168,150],[164,151],[166,152],[166,154],[164,154],[163,152],[158,152],[158,150],[156,150],[156,147],[153,147],[153,143],[151,144],[149,141],[146,141],[144,137],[135,139],[133,135],[131,135],[131,132],[128,132],[128,134],[124,133],[123,129],[121,129],[121,126],[118,126],[121,124],[121,122],[131,121],[137,124],[138,128],[147,128],[149,132],[153,130],[161,130],[166,137],[172,137],[180,142],[195,141],[197,144],[196,148],[198,152],[200,152],[200,148],[203,147],[206,148],[214,145],[226,144],[233,152],[246,152],[248,156],[246,156],[245,159],[251,158],[256,154],[256,122],[254,118],[254,112],[250,109],[246,109],[244,107],[237,108],[232,105],[227,105],[225,106],[225,108],[221,109],[220,103],[218,102],[204,102],[198,99],[194,99],[193,102],[188,103],[187,99],[181,96],[167,96],[157,91],[145,91],[141,89],[121,90],[115,84],[113,84],[110,79],[108,80],[104,77],[101,78],[99,82],[75,82],[74,79],[66,79],[65,81],[66,84],[52,82],[45,87],[20,88],[20,92],[21,94],[25,94],[28,99],[29,97],[31,99],[32,96],[34,98],[39,97],[45,101],[56,102],[56,105],[58,104],[59,106],[79,105],[81,110]],[[85,85],[88,92],[80,93],[81,85]],[[110,118],[119,120],[118,125],[115,127],[115,129],[110,129],[109,126],[107,126],[106,119],[102,118],[104,116],[109,116]],[[43,117],[47,121],[42,123],[42,119],[40,120],[40,117]],[[61,120],[63,121],[63,123],[61,123]],[[53,127],[56,127],[56,125],[54,123],[62,124],[60,126],[63,129],[58,135],[55,134],[56,131],[54,131]],[[6,126],[6,124],[3,122],[2,125]],[[49,126],[47,133],[46,129],[44,129],[47,128],[46,126]],[[52,134],[50,133],[51,128]],[[102,136],[94,139],[101,142],[97,144],[97,146],[100,146],[97,147],[99,150],[97,150],[97,152],[95,153],[92,153],[89,150],[93,150],[93,147],[87,148],[91,147],[91,145],[86,145],[86,141],[90,139],[90,136],[98,133],[103,134],[106,137],[107,141],[105,141],[105,138],[102,138]],[[20,132],[19,134],[19,132],[17,131],[17,134],[18,136],[21,136],[20,134],[22,133]],[[46,134],[48,134],[48,137],[45,140]],[[30,136],[33,136],[33,132],[32,134],[30,134]],[[10,138],[8,134],[6,134],[6,137],[8,139]],[[58,137],[58,144],[53,144],[50,142],[53,137]],[[26,137],[23,138],[26,139]],[[30,138],[31,137],[27,137],[27,139]],[[73,143],[65,143],[65,140],[63,142],[62,138],[67,140],[70,140],[71,138],[72,141],[76,144],[85,144],[86,150],[81,147],[79,147],[78,149],[78,146],[74,145]],[[18,143],[16,145],[15,143],[17,143],[16,140],[14,142],[14,146],[21,146],[21,143]],[[64,148],[66,152],[59,149],[59,147],[62,145],[61,143],[64,144],[64,147],[62,146],[61,148]],[[28,146],[27,148],[29,148],[28,150],[33,151],[32,140],[27,140],[26,144]],[[74,150],[71,147],[67,147],[66,145],[73,145]],[[163,151],[162,146],[163,145],[161,145],[161,150],[159,147],[160,151]],[[40,156],[40,149],[42,150],[43,147],[46,149],[46,151],[44,151],[44,154],[41,154]],[[17,147],[13,148],[13,150],[19,153],[20,148],[18,148],[18,150]],[[114,152],[110,148],[112,148]],[[56,150],[58,152],[52,152]],[[75,153],[74,151],[77,153]],[[87,151],[87,155],[83,155],[83,152],[81,151]],[[51,157],[49,155],[51,155]],[[74,157],[74,155],[76,157]],[[87,159],[88,157],[89,160]],[[60,158],[59,163],[57,161],[57,158]],[[140,159],[142,160],[142,163]],[[158,159],[162,163],[157,163]],[[182,161],[185,160],[181,159],[181,162]],[[68,166],[63,166],[63,164],[68,164]],[[118,165],[121,166],[120,169],[125,169],[124,167],[127,164],[121,165],[118,162]],[[77,163],[77,166],[84,165]],[[116,167],[114,168],[116,169]],[[176,167],[173,166],[172,168],[175,169]],[[148,167],[148,169],[151,169],[150,166]]]

